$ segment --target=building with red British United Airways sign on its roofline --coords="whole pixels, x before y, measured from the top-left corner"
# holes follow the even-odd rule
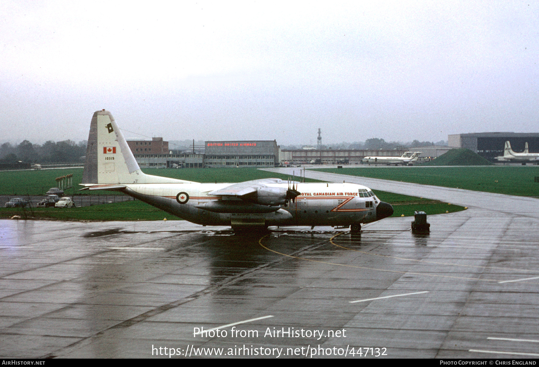
[[[205,142],[205,167],[257,167],[279,165],[279,146],[275,140]]]

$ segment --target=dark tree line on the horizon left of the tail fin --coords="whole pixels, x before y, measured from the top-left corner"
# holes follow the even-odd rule
[[[72,140],[52,142],[43,145],[23,140],[18,145],[4,143],[0,146],[0,163],[77,163],[86,155],[87,141],[75,143]]]

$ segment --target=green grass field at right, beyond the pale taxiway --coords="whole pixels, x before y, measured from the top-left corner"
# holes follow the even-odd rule
[[[539,197],[537,166],[357,167],[320,171],[506,195]]]

